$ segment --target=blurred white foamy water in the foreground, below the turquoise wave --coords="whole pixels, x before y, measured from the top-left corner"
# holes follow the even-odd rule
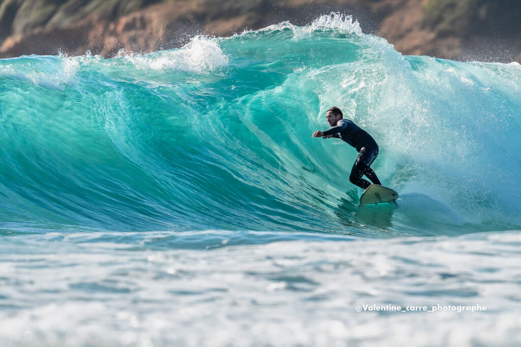
[[[511,280],[521,276],[520,232],[345,241],[300,233],[262,245],[237,243],[284,235],[53,235],[9,237],[9,254],[0,254],[0,302],[10,303],[0,311],[2,345],[521,342],[521,287]],[[165,250],[172,237],[181,248],[183,240],[220,248]],[[230,242],[222,247],[223,240]],[[357,305],[487,310],[382,313]]]

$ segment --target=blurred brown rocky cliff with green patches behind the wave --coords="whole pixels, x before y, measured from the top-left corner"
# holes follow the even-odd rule
[[[403,54],[521,60],[518,0],[0,0],[0,57],[145,53],[331,11]]]

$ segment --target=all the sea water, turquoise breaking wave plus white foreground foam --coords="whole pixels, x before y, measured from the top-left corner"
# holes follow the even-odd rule
[[[520,93],[338,14],[0,60],[0,345],[519,345]]]

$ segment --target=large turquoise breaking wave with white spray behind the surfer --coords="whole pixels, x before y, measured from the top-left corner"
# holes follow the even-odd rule
[[[195,37],[148,55],[0,60],[4,227],[521,228],[521,68],[402,56],[350,17]],[[400,207],[360,207],[344,111]],[[382,230],[386,233],[382,234]]]

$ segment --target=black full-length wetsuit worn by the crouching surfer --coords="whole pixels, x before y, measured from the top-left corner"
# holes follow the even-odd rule
[[[375,172],[370,168],[373,161],[378,157],[378,145],[371,135],[349,119],[339,120],[337,126],[333,126],[324,132],[324,136],[327,135],[341,138],[358,151],[358,157],[353,164],[353,169],[351,169],[351,175],[349,175],[351,183],[362,189],[367,189],[371,184],[362,178],[363,175],[366,175],[371,182],[381,185]]]

